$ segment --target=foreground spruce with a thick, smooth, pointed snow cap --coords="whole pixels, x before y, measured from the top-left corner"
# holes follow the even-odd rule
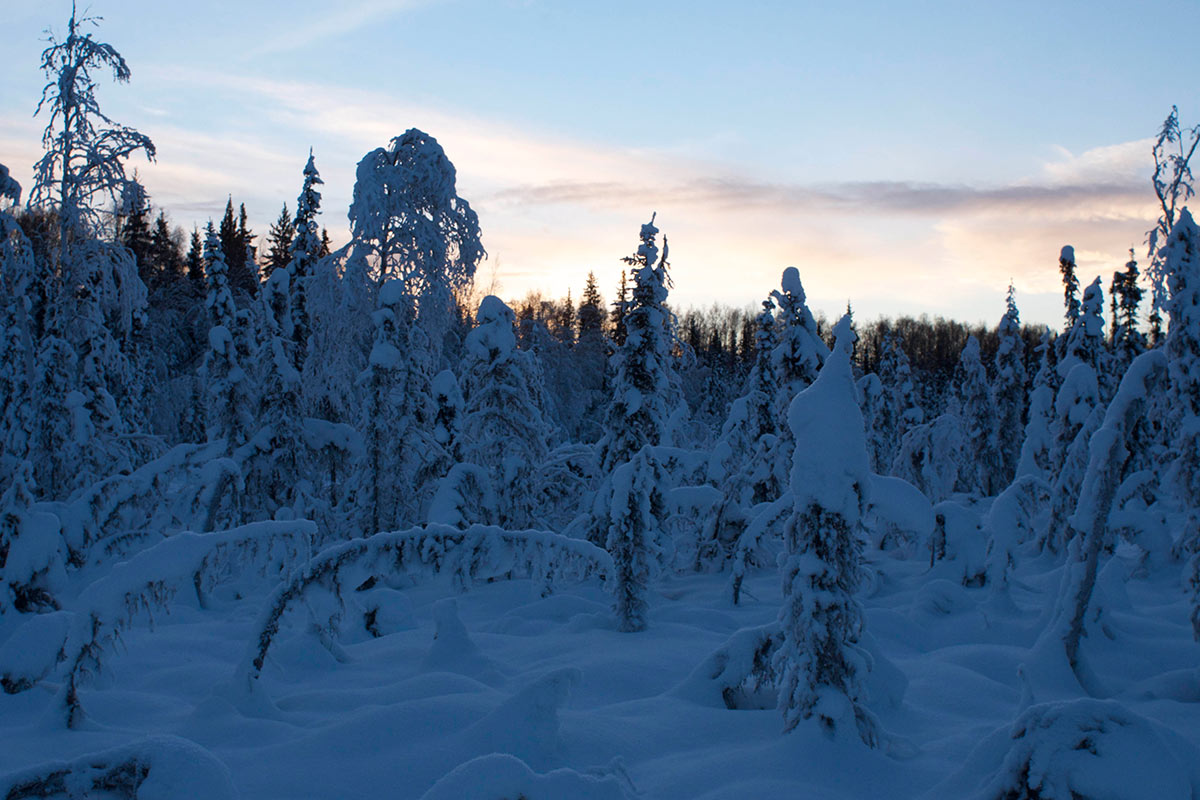
[[[815,717],[830,736],[853,729],[874,747],[877,723],[863,705],[870,658],[857,645],[863,609],[854,599],[871,471],[854,397],[848,315],[838,323],[835,336],[820,375],[787,413],[796,440],[794,511],[784,531],[787,559],[779,612],[784,640],[775,672],[781,676],[785,730]]]

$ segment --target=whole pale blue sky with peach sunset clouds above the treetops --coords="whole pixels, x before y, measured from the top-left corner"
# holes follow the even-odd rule
[[[86,8],[132,71],[101,77],[101,108],[154,139],[130,167],[174,223],[232,196],[265,234],[312,148],[343,242],[358,161],[416,127],[506,299],[577,297],[594,271],[611,301],[656,213],[679,308],[757,305],[794,265],[828,317],[995,324],[1012,281],[1024,321],[1057,326],[1061,247],[1105,289],[1130,247],[1145,263],[1153,137],[1172,104],[1200,121],[1196,0]],[[26,188],[44,31],[70,10],[0,0],[0,163]]]

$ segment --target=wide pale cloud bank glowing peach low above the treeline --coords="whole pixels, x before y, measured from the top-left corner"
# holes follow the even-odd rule
[[[482,273],[496,270],[510,297],[530,289],[577,295],[594,270],[611,300],[620,257],[658,211],[680,307],[756,303],[782,267],[796,265],[814,307],[830,317],[848,299],[868,319],[928,309],[994,320],[1013,279],[1025,319],[1052,324],[1058,248],[1075,246],[1084,275],[1106,275],[1130,245],[1142,246],[1154,218],[1144,140],[1061,151],[1008,185],[800,184],[678,150],[622,149],[421,107],[380,90],[176,67],[155,79],[204,88],[229,107],[218,122],[224,130],[148,131],[160,162],[139,169],[178,222],[203,223],[233,193],[265,233],[278,205],[294,203],[313,144],[325,179],[323,223],[344,240],[359,158],[415,126],[454,161],[491,253]],[[19,136],[0,120],[0,148]],[[36,134],[29,144],[36,149]]]

